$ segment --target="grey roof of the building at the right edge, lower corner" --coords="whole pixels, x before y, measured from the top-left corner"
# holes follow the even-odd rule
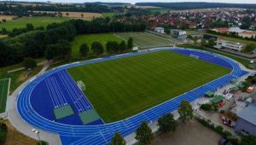
[[[246,107],[244,110],[238,113],[237,116],[241,119],[247,120],[253,125],[256,125],[256,103],[252,103]]]

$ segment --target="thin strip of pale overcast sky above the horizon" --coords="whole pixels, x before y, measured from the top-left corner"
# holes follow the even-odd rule
[[[0,0],[0,1],[3,1],[3,0]],[[47,0],[15,0],[15,1],[46,2]],[[84,3],[84,2],[122,2],[122,3],[138,3],[138,2],[256,3],[256,0],[51,0],[51,2],[61,2],[61,3]]]

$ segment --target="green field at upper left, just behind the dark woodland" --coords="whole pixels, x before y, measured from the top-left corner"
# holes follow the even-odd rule
[[[34,27],[47,26],[51,23],[61,23],[65,20],[69,20],[67,17],[22,17],[16,20],[9,20],[0,24],[1,27],[5,27],[7,31],[12,31],[14,28],[24,28],[27,23],[32,23]]]

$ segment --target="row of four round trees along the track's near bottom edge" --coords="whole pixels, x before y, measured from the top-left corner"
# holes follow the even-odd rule
[[[179,120],[186,122],[194,118],[194,113],[192,106],[188,101],[183,101],[180,103],[177,112],[179,113]],[[170,131],[176,131],[177,129],[177,120],[173,118],[172,113],[167,113],[158,119],[159,131],[161,134],[168,133]],[[143,121],[142,124],[137,128],[136,137],[139,144],[150,144],[154,139],[154,134],[149,128],[146,121]],[[119,132],[116,132],[111,140],[112,145],[125,145],[125,139]]]

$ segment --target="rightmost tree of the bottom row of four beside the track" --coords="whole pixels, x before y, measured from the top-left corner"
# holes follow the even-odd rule
[[[179,119],[183,122],[194,118],[193,108],[186,100],[183,100],[183,102],[179,104],[177,113],[179,114]]]

